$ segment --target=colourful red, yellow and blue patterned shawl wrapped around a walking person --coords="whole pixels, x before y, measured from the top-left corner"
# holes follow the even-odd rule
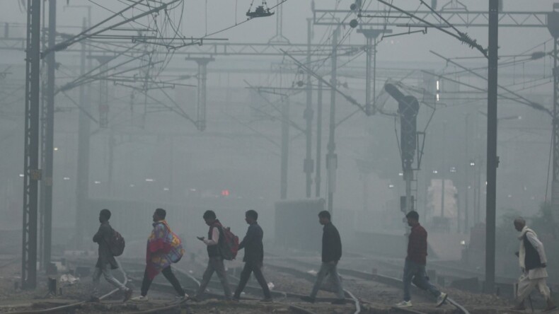
[[[166,221],[156,221],[153,225],[154,230],[151,231],[146,246],[146,270],[149,279],[154,279],[171,263],[178,262],[185,252],[180,238],[171,231]]]

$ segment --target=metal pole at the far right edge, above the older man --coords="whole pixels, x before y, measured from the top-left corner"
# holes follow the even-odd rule
[[[553,220],[559,221],[559,4],[553,4],[548,13],[548,30],[553,36],[553,178],[551,181],[551,206]]]

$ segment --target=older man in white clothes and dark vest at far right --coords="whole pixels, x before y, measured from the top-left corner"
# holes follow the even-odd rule
[[[514,310],[525,310],[524,299],[536,287],[548,303],[545,311],[555,310],[557,307],[551,299],[551,292],[546,284],[548,272],[546,271],[547,259],[543,243],[532,229],[526,227],[526,221],[523,218],[514,219],[514,228],[520,232],[518,237],[520,248],[517,255],[522,270],[518,279],[517,302],[519,303],[514,307]]]

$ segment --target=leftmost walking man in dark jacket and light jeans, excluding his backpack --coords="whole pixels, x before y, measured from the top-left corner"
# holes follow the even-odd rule
[[[127,286],[113,277],[113,273],[111,272],[111,269],[118,268],[118,264],[113,253],[110,251],[109,244],[111,243],[111,237],[113,237],[113,228],[111,228],[109,224],[109,219],[110,211],[108,209],[101,209],[99,213],[99,222],[101,225],[95,236],[93,236],[93,242],[99,245],[99,257],[95,264],[95,272],[93,272],[93,293],[97,293],[99,279],[101,274],[103,274],[105,280],[125,293],[124,302],[126,302],[132,296],[132,289],[127,288]],[[93,298],[96,297],[94,296]]]

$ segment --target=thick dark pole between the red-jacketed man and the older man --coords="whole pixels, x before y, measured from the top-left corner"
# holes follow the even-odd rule
[[[485,292],[495,288],[495,203],[497,186],[497,64],[499,38],[499,0],[489,0],[488,46],[488,146],[487,199],[485,225]]]

